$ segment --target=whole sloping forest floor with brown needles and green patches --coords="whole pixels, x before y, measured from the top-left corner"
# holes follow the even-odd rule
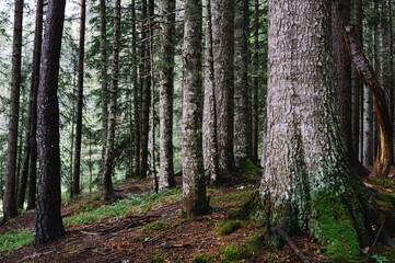
[[[0,228],[0,262],[300,262],[288,245],[278,252],[263,245],[258,213],[247,220],[228,219],[256,191],[259,178],[259,173],[229,174],[223,186],[208,188],[211,213],[191,219],[182,217],[181,190],[154,194],[152,179],[117,185],[127,198],[113,204],[100,193],[66,199],[61,206],[66,236],[38,247],[32,245],[35,211],[23,213]],[[181,178],[176,180],[182,185]],[[395,193],[392,180],[367,184]],[[328,262],[314,238],[292,240],[310,262]],[[374,255],[395,259],[381,244]]]

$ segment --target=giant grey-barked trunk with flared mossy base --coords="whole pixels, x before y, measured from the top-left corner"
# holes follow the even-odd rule
[[[368,244],[362,207],[369,203],[341,140],[330,4],[269,1],[268,126],[260,194],[275,227],[309,232],[328,245],[327,251],[351,240],[353,247],[339,245],[333,259],[349,262],[359,260],[358,240]]]

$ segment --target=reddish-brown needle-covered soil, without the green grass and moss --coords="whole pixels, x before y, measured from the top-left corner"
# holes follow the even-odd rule
[[[211,201],[217,196],[254,191],[258,180],[246,179],[241,174],[229,174],[226,185],[210,192]],[[181,176],[176,178],[182,185]],[[151,179],[129,181],[117,186],[123,194],[143,194],[151,191]],[[93,195],[93,194],[91,194]],[[82,195],[63,203],[61,214],[69,217],[75,211],[78,202],[90,195]],[[184,219],[182,202],[165,204],[143,214],[128,215],[116,221],[103,220],[66,229],[66,236],[44,245],[25,245],[11,254],[0,254],[1,262],[191,262],[197,254],[210,254],[212,262],[223,262],[223,248],[229,244],[244,245],[248,239],[263,232],[254,220],[242,222],[233,233],[219,237],[217,225],[226,220],[230,209],[240,207],[243,199],[226,203],[216,202],[209,215]],[[154,221],[167,222],[161,230],[142,231]],[[0,228],[0,236],[11,229],[28,228],[34,231],[35,211],[23,213],[11,224]],[[320,243],[312,237],[291,237],[310,262],[325,262]],[[266,249],[255,251],[244,262],[300,262],[292,250],[284,245],[281,251]]]

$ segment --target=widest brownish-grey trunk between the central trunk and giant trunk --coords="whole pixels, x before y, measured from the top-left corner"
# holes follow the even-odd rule
[[[234,121],[234,1],[211,0],[212,53],[216,79],[217,138],[222,172],[235,170]]]

